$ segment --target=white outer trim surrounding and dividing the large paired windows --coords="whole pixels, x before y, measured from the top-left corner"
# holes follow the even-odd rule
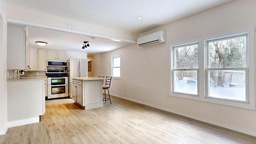
[[[246,108],[250,110],[255,110],[255,93],[254,93],[254,88],[255,88],[255,66],[254,66],[254,54],[255,54],[255,46],[254,46],[254,31],[255,28],[248,28],[245,30],[238,30],[234,32],[229,32],[226,34],[219,34],[215,36],[209,36],[209,37],[204,37],[204,38],[199,38],[196,40],[190,40],[186,42],[179,42],[177,44],[173,44],[172,46],[177,46],[177,45],[182,45],[182,44],[189,44],[189,43],[195,43],[198,42],[198,65],[199,65],[199,96],[194,96],[190,94],[178,94],[178,93],[173,93],[172,92],[172,46],[169,48],[169,95],[174,96],[174,97],[179,97],[179,98],[186,98],[186,99],[191,99],[191,100],[199,100],[203,102],[210,102],[210,103],[215,103],[215,104],[222,104],[226,106],[234,106],[238,108]],[[221,37],[226,37],[226,36],[231,36],[231,35],[236,35],[236,34],[242,34],[248,32],[248,48],[249,48],[249,70],[248,70],[248,98],[249,98],[249,103],[246,102],[237,102],[237,101],[231,101],[231,100],[222,100],[222,99],[216,99],[216,98],[206,98],[206,40],[214,39],[214,38],[221,38]],[[201,64],[203,62],[203,64]]]

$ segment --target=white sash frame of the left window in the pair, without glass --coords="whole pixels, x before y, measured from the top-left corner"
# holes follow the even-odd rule
[[[181,47],[185,47],[185,46],[193,46],[193,45],[198,45],[198,68],[184,68],[184,69],[178,69],[178,68],[174,68],[175,65],[175,48],[181,48]],[[187,44],[180,44],[180,45],[176,45],[176,46],[171,46],[171,55],[172,55],[172,64],[171,64],[171,71],[172,71],[172,88],[171,88],[171,92],[172,93],[177,93],[177,94],[183,94],[183,95],[190,95],[190,96],[199,96],[199,42],[192,42],[192,43],[187,43]],[[197,71],[197,94],[191,94],[191,93],[183,93],[183,92],[176,92],[174,91],[174,83],[175,83],[175,71],[179,71],[179,70],[183,70],[183,71]]]

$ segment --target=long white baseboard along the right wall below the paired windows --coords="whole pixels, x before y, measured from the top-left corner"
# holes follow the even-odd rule
[[[188,114],[184,114],[184,113],[181,113],[181,112],[176,112],[174,110],[170,110],[170,109],[167,109],[167,108],[162,108],[162,107],[159,107],[159,106],[154,106],[152,104],[147,104],[147,103],[144,103],[144,102],[140,102],[140,101],[137,101],[137,100],[133,100],[133,99],[130,99],[130,98],[125,98],[125,97],[122,97],[122,96],[118,96],[118,95],[115,95],[115,94],[110,94],[111,96],[116,96],[118,98],[123,98],[125,100],[130,100],[132,102],[137,102],[139,104],[144,104],[146,106],[150,106],[150,107],[153,107],[153,108],[157,108],[157,109],[160,109],[160,110],[164,110],[164,111],[167,111],[167,112],[172,112],[174,114],[178,114],[178,115],[181,115],[181,116],[186,116],[188,118],[192,118],[192,119],[195,119],[195,120],[199,120],[199,121],[202,121],[202,122],[206,122],[208,124],[213,124],[213,125],[216,125],[216,126],[220,126],[220,127],[223,127],[223,128],[228,128],[230,130],[234,130],[234,131],[237,131],[237,132],[242,132],[244,134],[248,134],[248,135],[251,135],[251,136],[256,136],[256,132],[252,132],[252,131],[248,131],[248,130],[244,130],[244,129],[240,129],[240,128],[236,128],[234,126],[228,126],[228,125],[225,125],[225,124],[221,124],[221,123],[218,123],[218,122],[214,122],[214,121],[210,121],[210,120],[205,120],[205,119],[202,119],[202,118],[196,118],[192,115],[188,115]]]

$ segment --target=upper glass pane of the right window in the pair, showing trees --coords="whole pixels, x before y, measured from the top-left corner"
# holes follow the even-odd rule
[[[209,68],[245,68],[246,36],[208,42]]]

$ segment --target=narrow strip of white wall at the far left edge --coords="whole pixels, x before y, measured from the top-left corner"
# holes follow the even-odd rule
[[[6,4],[0,0],[0,135],[5,134],[7,127],[7,24]]]

